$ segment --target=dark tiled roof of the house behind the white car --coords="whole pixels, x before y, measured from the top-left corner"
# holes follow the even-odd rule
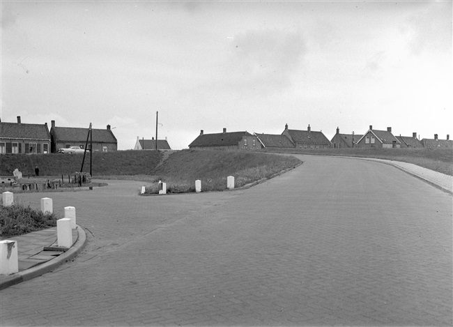
[[[85,142],[88,128],[52,127],[50,130],[57,142]],[[98,130],[93,128],[93,142],[116,143],[112,130]]]

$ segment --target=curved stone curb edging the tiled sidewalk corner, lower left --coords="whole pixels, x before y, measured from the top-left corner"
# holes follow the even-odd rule
[[[53,271],[55,268],[61,266],[65,262],[74,259],[74,257],[77,256],[77,254],[82,252],[86,245],[86,233],[84,229],[79,225],[77,225],[76,228],[79,233],[79,238],[68,251],[63,252],[58,257],[49,260],[43,264],[32,267],[30,269],[26,269],[24,271],[20,271],[19,273],[15,273],[13,275],[6,277],[6,280],[3,280],[0,283],[0,290],[6,289],[15,284],[19,284],[20,282],[25,282],[26,280],[31,280],[45,273],[49,273],[50,271]]]

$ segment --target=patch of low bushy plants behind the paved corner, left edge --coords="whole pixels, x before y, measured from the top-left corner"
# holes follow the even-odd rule
[[[34,211],[22,204],[3,207],[0,204],[0,238],[17,236],[56,226],[55,213],[45,214]]]

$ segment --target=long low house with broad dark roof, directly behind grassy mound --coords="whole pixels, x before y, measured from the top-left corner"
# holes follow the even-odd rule
[[[189,144],[189,149],[211,150],[256,150],[261,149],[261,144],[255,135],[247,131],[227,132],[227,128],[221,133],[205,134],[201,130],[200,135]]]

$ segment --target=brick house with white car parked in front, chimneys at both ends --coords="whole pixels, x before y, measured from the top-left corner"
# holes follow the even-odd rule
[[[52,153],[56,153],[60,148],[69,148],[70,146],[79,146],[80,149],[84,149],[88,132],[89,128],[57,127],[55,121],[52,121],[52,128],[50,129]],[[92,128],[91,135],[93,151],[112,152],[118,150],[118,141],[110,129],[110,125],[107,125],[105,130]],[[90,149],[90,142],[88,149]]]

